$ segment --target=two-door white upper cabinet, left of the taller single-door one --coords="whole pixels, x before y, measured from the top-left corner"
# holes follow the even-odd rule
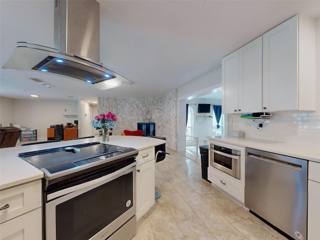
[[[222,59],[222,113],[262,108],[262,36]]]

